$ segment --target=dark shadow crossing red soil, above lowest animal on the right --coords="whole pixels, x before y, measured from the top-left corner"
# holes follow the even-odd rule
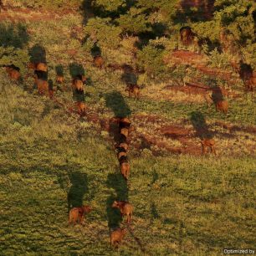
[[[205,138],[212,138],[212,134],[208,131],[207,123],[204,115],[202,115],[199,111],[193,111],[190,114],[190,120],[194,129],[196,130],[196,136],[198,136],[201,140]]]

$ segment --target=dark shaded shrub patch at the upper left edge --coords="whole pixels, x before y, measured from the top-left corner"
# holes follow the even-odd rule
[[[29,35],[24,24],[0,24],[0,45],[4,48],[14,47],[23,49],[28,44]]]

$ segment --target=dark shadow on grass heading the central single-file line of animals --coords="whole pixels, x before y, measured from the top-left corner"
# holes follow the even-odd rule
[[[131,115],[130,107],[125,103],[124,97],[118,91],[105,94],[105,105],[113,110],[115,117]]]

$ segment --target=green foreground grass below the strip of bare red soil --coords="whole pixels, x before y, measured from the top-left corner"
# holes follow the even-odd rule
[[[223,248],[253,248],[252,157],[143,151],[131,159],[127,186],[97,127],[7,80],[1,86],[3,255],[219,255]],[[118,250],[109,243],[109,228],[125,226],[110,207],[115,198],[135,207]],[[94,210],[84,227],[69,228],[69,204],[81,203]]]

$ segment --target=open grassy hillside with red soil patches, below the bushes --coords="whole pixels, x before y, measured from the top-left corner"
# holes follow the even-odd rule
[[[28,69],[22,70],[18,84],[0,69],[0,254],[220,255],[223,248],[253,248],[255,95],[244,92],[230,65],[220,67],[230,79],[215,71],[212,77],[195,63],[185,64],[182,44],[172,49],[169,42],[166,49],[182,60],[170,57],[170,50],[162,75],[136,74],[142,90],[141,99],[134,100],[125,92],[122,66],[136,69],[137,35],[122,38],[117,49],[102,44],[105,66],[98,69],[93,45],[84,43],[84,15],[92,13],[69,6],[37,8],[0,13],[1,31],[13,36],[1,42],[22,44],[28,55],[39,49],[54,81],[54,100],[49,100],[38,95]],[[25,25],[21,41],[16,41],[15,30],[7,29],[18,23]],[[211,70],[223,58],[215,57],[207,55]],[[64,69],[60,85],[55,83],[58,66]],[[75,113],[71,90],[72,73],[81,69],[88,78],[84,118]],[[228,115],[207,107],[202,92],[184,81],[230,89]],[[135,127],[129,138],[128,183],[120,175],[115,132],[108,126],[116,115],[128,115]],[[201,156],[202,132],[214,137],[218,156]],[[111,208],[115,199],[135,207],[118,249],[110,248],[110,230],[126,225]],[[69,228],[69,207],[82,204],[93,211],[84,226]]]

